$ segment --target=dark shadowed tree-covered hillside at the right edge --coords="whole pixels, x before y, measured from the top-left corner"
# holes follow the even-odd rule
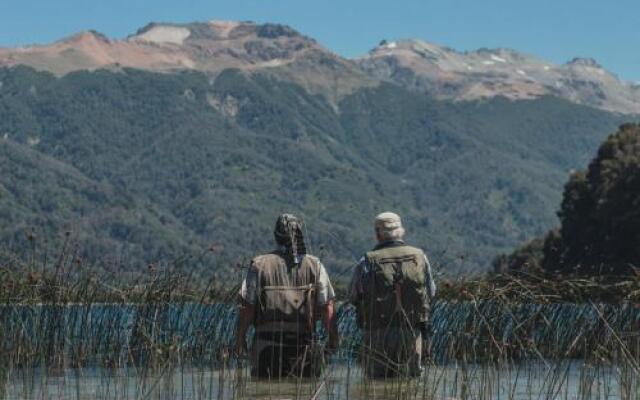
[[[640,125],[624,124],[564,188],[560,227],[495,261],[498,269],[628,275],[640,268]]]

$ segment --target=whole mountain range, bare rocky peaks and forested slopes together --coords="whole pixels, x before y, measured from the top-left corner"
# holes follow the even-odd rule
[[[637,96],[592,61],[420,41],[348,60],[250,22],[0,49],[0,240],[70,232],[117,270],[186,254],[224,275],[292,211],[348,271],[391,209],[439,268],[482,271],[557,224],[566,176]]]

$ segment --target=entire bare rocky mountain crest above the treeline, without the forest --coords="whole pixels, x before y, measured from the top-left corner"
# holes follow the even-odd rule
[[[640,84],[620,80],[590,58],[555,65],[511,49],[459,52],[422,40],[399,40],[382,41],[367,55],[347,60],[278,24],[151,23],[124,40],[87,31],[51,45],[0,49],[0,65],[19,64],[57,75],[122,67],[209,74],[227,68],[269,69],[334,97],[385,80],[439,99],[552,95],[607,111],[640,113]]]

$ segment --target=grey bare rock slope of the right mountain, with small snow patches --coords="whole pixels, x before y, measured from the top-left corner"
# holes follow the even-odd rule
[[[458,52],[402,40],[383,41],[355,62],[371,76],[443,99],[554,95],[608,111],[640,113],[640,85],[620,80],[593,59],[554,65],[510,49]]]

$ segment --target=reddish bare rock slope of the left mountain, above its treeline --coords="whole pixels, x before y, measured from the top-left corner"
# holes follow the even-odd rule
[[[315,40],[279,24],[151,23],[124,40],[81,32],[50,45],[0,49],[0,66],[28,65],[62,76],[78,70],[222,70],[272,73],[335,100],[375,80]]]

